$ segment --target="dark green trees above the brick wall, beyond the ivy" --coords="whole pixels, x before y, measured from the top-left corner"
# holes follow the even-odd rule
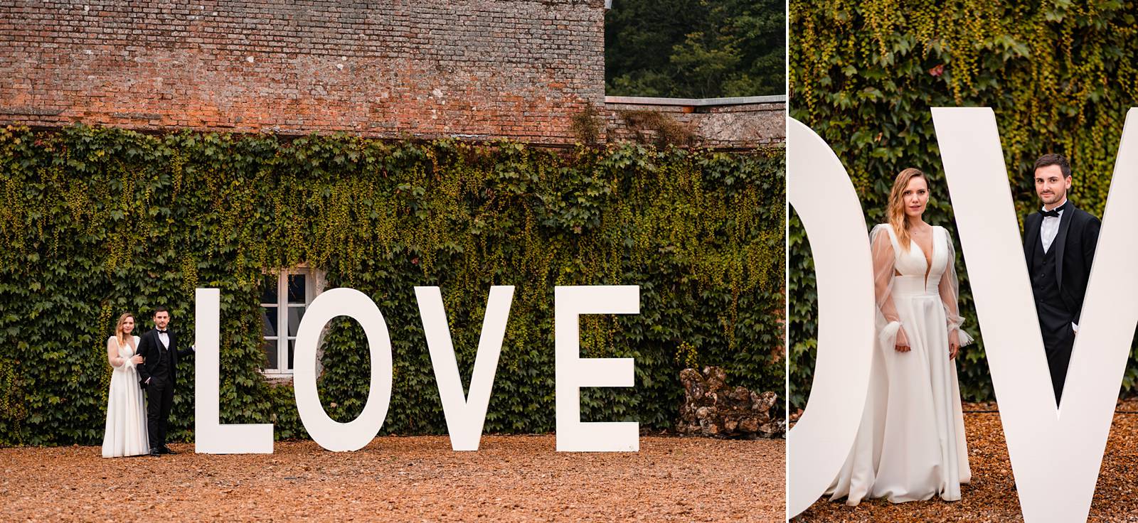
[[[617,0],[605,15],[605,92],[629,97],[780,94],[784,3]]]

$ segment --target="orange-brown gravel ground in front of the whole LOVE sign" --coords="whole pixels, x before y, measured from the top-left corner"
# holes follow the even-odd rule
[[[272,455],[104,459],[99,447],[0,449],[5,521],[784,521],[785,440],[641,438],[556,453],[553,435],[312,441]]]

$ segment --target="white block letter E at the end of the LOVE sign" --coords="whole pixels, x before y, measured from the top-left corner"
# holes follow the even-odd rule
[[[633,387],[633,358],[580,357],[583,314],[640,314],[638,285],[553,288],[558,451],[637,451],[640,423],[582,423],[582,387]]]

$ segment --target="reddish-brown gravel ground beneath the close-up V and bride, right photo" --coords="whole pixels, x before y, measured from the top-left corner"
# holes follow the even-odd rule
[[[996,410],[992,404],[965,405],[967,410]],[[1016,522],[1020,499],[1007,457],[1004,427],[997,413],[965,413],[972,484],[960,485],[959,501],[909,501],[883,499],[847,507],[823,498],[794,522]],[[1120,401],[1106,441],[1103,467],[1089,522],[1138,522],[1138,400]]]

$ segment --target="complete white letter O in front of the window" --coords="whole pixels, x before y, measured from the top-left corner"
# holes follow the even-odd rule
[[[348,423],[328,417],[316,392],[316,343],[320,331],[337,316],[348,316],[360,323],[368,337],[371,354],[371,385],[360,416]],[[296,409],[308,435],[328,450],[358,450],[384,426],[391,401],[391,338],[376,302],[355,289],[324,291],[312,301],[296,333],[296,363],[292,387]]]

